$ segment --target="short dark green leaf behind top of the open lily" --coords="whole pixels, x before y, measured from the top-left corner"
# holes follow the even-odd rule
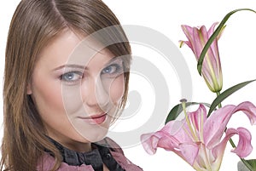
[[[207,107],[211,106],[210,104],[207,104],[207,103],[187,102],[186,107],[188,107],[189,105],[199,105],[199,104],[206,105]],[[166,123],[168,123],[169,121],[175,120],[182,111],[183,111],[183,105],[181,103],[175,105],[172,108],[172,110],[169,112],[168,116],[166,117]]]

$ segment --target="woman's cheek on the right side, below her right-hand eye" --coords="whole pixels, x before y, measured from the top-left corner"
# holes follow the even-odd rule
[[[113,101],[113,103],[119,102],[121,98],[123,97],[125,92],[125,79],[124,75],[120,75],[116,79],[113,80],[113,83],[111,83],[110,86],[110,98]]]

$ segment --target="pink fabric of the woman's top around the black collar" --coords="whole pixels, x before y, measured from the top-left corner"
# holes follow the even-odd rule
[[[107,138],[107,140],[109,145],[117,146],[117,144],[113,140],[109,138]],[[117,148],[116,151],[110,151],[110,152],[113,158],[116,160],[116,162],[118,162],[119,165],[125,169],[125,171],[142,171],[143,170],[142,168],[138,167],[137,165],[133,164],[130,160],[128,160],[125,157],[124,152],[122,151],[121,148]],[[49,153],[45,152],[42,162],[44,163],[44,168],[42,169],[40,167],[42,166],[42,164],[39,163],[37,170],[49,171],[55,165],[55,158],[50,156]],[[66,162],[62,162],[61,167],[58,168],[57,171],[94,171],[94,169],[92,168],[91,165],[82,164],[80,166],[71,166],[71,165],[68,165]]]

